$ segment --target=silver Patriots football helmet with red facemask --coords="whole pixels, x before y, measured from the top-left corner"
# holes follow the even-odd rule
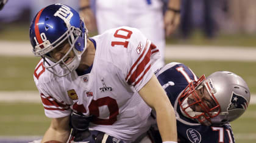
[[[202,88],[206,88],[215,103],[210,105],[202,100],[199,95]],[[250,97],[249,88],[243,78],[230,71],[217,71],[208,78],[203,75],[197,81],[191,82],[178,101],[183,115],[188,118],[204,125],[222,125],[240,117],[246,111]],[[195,105],[202,111],[194,111]]]

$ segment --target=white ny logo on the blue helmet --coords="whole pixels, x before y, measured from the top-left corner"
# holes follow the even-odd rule
[[[54,13],[54,16],[58,16],[59,18],[61,18],[65,22],[66,27],[70,27],[70,19],[72,18],[73,13],[71,12],[69,7],[67,7],[66,5],[62,5],[62,7],[60,7],[59,10]]]

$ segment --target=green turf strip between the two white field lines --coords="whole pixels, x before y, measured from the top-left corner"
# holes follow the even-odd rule
[[[0,91],[13,90],[37,90],[34,84],[33,74],[35,65],[40,59],[34,57],[10,57],[1,56],[0,61],[2,67],[0,70]],[[167,60],[168,62],[174,62]],[[183,61],[182,62],[197,76],[205,74],[210,75],[213,71],[229,70],[240,75],[247,82],[252,93],[256,93],[256,62],[228,62],[228,61]]]

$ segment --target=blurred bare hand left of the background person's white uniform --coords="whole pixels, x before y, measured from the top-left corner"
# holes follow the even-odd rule
[[[91,8],[80,10],[79,15],[81,18],[84,18],[88,32],[94,32],[97,30],[96,19]]]

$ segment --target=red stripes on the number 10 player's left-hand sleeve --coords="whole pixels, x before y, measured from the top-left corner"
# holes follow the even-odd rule
[[[43,102],[43,106],[47,110],[68,110],[69,105],[60,103],[55,101],[51,96],[45,96],[41,93],[41,101]]]

